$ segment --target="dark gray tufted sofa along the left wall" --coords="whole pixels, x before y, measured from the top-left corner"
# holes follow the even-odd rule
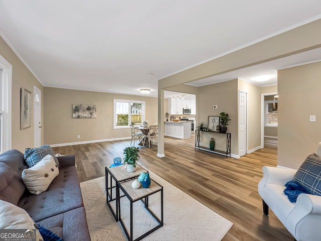
[[[36,223],[65,241],[90,240],[85,208],[80,191],[75,156],[61,156],[59,175],[49,188],[31,194],[21,174],[28,166],[24,154],[10,150],[0,155],[0,199],[25,209]]]

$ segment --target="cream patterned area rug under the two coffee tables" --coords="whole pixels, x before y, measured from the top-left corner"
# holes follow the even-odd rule
[[[150,177],[164,187],[164,226],[141,240],[216,241],[221,240],[233,225],[196,199],[187,195],[163,178],[149,172]],[[127,240],[106,204],[105,177],[80,183],[92,241]],[[140,187],[142,188],[142,187]],[[160,217],[160,193],[149,197],[149,208]],[[113,204],[114,202],[111,202]],[[121,198],[121,217],[129,227],[129,201]],[[141,201],[133,205],[133,238],[158,223],[144,209]]]

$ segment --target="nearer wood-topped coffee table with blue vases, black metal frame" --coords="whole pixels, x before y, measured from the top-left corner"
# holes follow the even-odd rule
[[[137,240],[140,240],[143,237],[147,236],[149,233],[155,231],[159,227],[162,227],[163,224],[164,224],[164,221],[163,221],[163,217],[164,217],[163,186],[159,185],[157,182],[155,182],[154,180],[150,179],[149,188],[140,187],[139,189],[133,189],[131,187],[131,183],[132,182],[133,182],[133,180],[128,180],[128,181],[125,181],[125,182],[118,183],[118,186],[119,186],[120,190],[125,194],[124,196],[126,196],[128,198],[128,200],[130,201],[130,224],[129,224],[130,227],[129,227],[129,233],[128,233],[128,230],[127,230],[123,220],[121,219],[120,200],[118,201],[118,203],[119,203],[119,222],[120,222],[124,232],[126,233],[126,236],[127,236],[128,240],[137,241]],[[148,207],[148,205],[149,205],[148,204],[148,197],[150,195],[152,195],[152,194],[157,193],[157,192],[161,192],[161,219],[159,219]],[[124,196],[122,196],[122,197],[124,197]],[[133,203],[136,202],[136,201],[139,201],[139,200],[141,200],[144,203],[145,209],[158,222],[158,225],[156,225],[155,227],[153,227],[150,230],[146,231],[145,233],[141,234],[139,237],[133,239]]]

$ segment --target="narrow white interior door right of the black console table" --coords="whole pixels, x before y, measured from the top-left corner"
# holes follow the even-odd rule
[[[239,155],[245,156],[247,146],[247,93],[239,92]]]

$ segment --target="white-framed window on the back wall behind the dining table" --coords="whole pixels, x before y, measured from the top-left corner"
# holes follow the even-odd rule
[[[114,129],[142,123],[144,114],[145,101],[114,99]]]

